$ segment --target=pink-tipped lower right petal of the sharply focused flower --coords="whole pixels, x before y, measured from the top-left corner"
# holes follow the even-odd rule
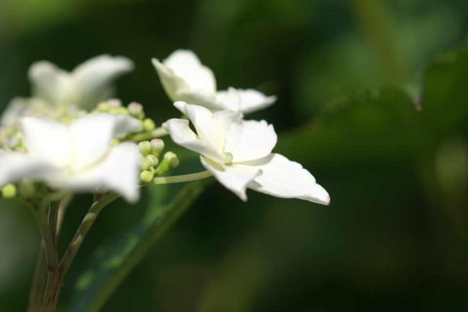
[[[261,170],[249,188],[283,198],[300,198],[329,205],[330,195],[315,183],[315,178],[302,165],[280,154],[271,154],[254,161],[236,163],[245,170]]]

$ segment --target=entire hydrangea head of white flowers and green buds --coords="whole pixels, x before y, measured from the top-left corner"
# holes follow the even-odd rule
[[[244,120],[243,114],[272,105],[275,96],[232,87],[217,91],[213,72],[192,51],[152,61],[168,97],[188,119],[156,128],[141,104],[125,107],[109,99],[114,80],[133,69],[129,59],[102,55],[70,73],[47,61],[34,63],[28,73],[33,96],[13,99],[0,120],[3,197],[115,191],[135,202],[138,185],[157,184],[156,176],[178,166],[176,154],[162,155],[158,137],[169,134],[199,153],[209,173],[244,201],[250,188],[330,204],[306,169],[272,153],[273,125]]]

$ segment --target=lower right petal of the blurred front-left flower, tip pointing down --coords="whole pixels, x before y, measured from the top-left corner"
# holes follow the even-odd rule
[[[105,158],[88,170],[70,172],[68,176],[50,177],[52,186],[89,192],[94,188],[105,188],[122,194],[129,202],[139,198],[137,188],[137,146],[127,142],[108,148]]]

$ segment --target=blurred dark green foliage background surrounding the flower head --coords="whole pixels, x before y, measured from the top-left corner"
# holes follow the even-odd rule
[[[160,124],[178,114],[150,59],[190,48],[219,89],[278,95],[248,117],[273,123],[274,151],[331,194],[330,207],[255,192],[244,204],[209,187],[102,311],[466,311],[467,30],[464,0],[6,0],[0,106],[28,95],[35,60],[71,70],[110,53],[137,66],[117,96]],[[151,197],[99,215],[61,311],[88,256]],[[62,251],[90,203],[67,211]],[[26,307],[39,247],[28,213],[1,202],[2,312]]]

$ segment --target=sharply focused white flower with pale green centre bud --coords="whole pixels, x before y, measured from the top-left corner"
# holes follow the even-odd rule
[[[169,119],[163,123],[164,129],[176,144],[200,153],[203,166],[242,200],[247,200],[248,187],[277,197],[330,204],[327,191],[306,169],[271,153],[277,137],[265,120],[246,121],[241,113],[212,113],[185,102],[174,105],[189,117],[196,134],[184,119]]]

